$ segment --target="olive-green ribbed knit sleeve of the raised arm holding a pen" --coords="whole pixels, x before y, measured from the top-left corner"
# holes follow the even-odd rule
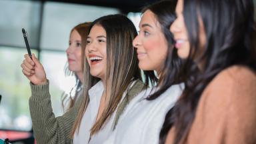
[[[49,81],[45,85],[31,85],[29,110],[37,143],[71,143],[71,129],[79,111],[82,97],[69,111],[55,117],[51,107]]]

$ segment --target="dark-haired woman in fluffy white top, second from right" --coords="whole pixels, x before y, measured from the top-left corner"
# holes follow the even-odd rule
[[[105,144],[159,143],[165,114],[173,107],[183,87],[179,79],[169,79],[169,73],[174,72],[172,67],[181,63],[181,59],[171,53],[174,45],[169,27],[175,20],[175,6],[176,1],[160,1],[143,9],[139,35],[133,40],[133,46],[139,68],[156,71],[159,81],[129,103]],[[165,80],[173,81],[173,85],[163,85]]]

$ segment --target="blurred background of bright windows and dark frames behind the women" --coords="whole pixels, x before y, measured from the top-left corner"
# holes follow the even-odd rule
[[[0,139],[33,143],[29,115],[29,81],[21,72],[27,53],[23,34],[28,33],[32,53],[39,58],[50,81],[53,111],[63,114],[61,95],[75,85],[65,77],[65,50],[71,29],[103,15],[122,13],[139,25],[141,8],[156,0],[0,0]]]

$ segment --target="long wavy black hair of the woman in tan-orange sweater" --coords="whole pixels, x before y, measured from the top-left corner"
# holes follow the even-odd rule
[[[254,8],[252,0],[184,0],[183,17],[190,43],[189,58],[181,71],[185,90],[165,117],[160,143],[175,127],[175,143],[184,143],[201,94],[212,79],[232,65],[256,69]],[[206,44],[199,53],[199,19],[205,29]],[[191,62],[191,59],[195,63]],[[199,70],[198,63],[203,61]]]

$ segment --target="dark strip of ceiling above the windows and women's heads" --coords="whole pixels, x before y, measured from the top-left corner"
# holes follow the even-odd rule
[[[39,1],[57,1],[64,3],[77,3],[82,5],[97,5],[104,7],[116,7],[123,13],[130,11],[141,11],[145,5],[149,5],[158,0],[39,0]]]

